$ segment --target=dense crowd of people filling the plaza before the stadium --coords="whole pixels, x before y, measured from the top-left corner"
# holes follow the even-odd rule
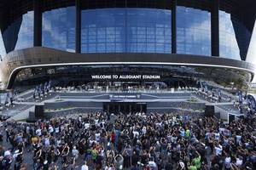
[[[0,169],[255,169],[255,120],[97,112],[3,122]]]

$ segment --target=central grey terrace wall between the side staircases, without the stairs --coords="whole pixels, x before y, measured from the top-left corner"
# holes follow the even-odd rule
[[[166,112],[172,109],[202,111],[204,103],[189,102],[191,93],[60,93],[44,102],[46,112],[70,108],[106,112]]]

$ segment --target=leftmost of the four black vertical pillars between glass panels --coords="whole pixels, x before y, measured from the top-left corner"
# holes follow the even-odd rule
[[[42,46],[42,12],[40,2],[33,1],[34,10],[34,46]]]

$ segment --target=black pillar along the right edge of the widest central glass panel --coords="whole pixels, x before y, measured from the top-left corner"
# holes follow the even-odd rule
[[[177,0],[172,0],[172,54],[177,53],[176,8]]]

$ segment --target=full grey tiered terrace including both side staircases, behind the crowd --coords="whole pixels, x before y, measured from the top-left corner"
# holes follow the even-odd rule
[[[26,95],[24,101],[15,102],[15,107],[25,108],[24,111],[20,109],[20,113],[13,117],[15,120],[26,119],[30,113],[35,113],[36,105],[43,105],[45,117],[53,117],[96,111],[204,114],[205,107],[209,104],[214,105],[215,112],[218,111],[222,117],[228,114],[241,116],[238,109],[230,102],[209,103],[198,98],[193,91],[174,93],[161,91],[159,93],[52,92],[39,101],[33,101],[32,97]]]

